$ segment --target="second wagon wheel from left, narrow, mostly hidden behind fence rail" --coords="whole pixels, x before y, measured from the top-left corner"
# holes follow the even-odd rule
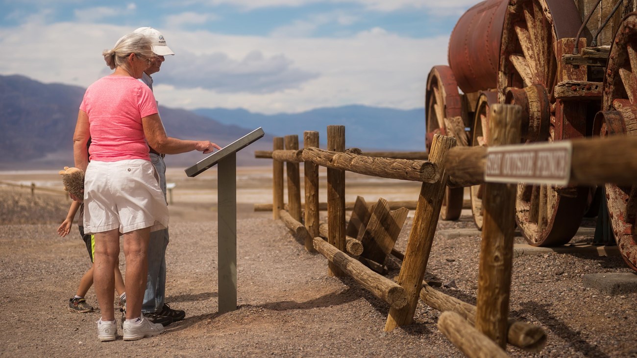
[[[471,138],[471,146],[486,147],[489,143],[489,108],[492,104],[497,103],[497,92],[483,91],[480,92],[478,102],[476,103],[475,115],[473,117],[473,136]],[[484,185],[473,185],[470,190],[471,194],[471,213],[473,214],[473,222],[475,222],[478,230],[482,230],[482,195],[484,193]]]

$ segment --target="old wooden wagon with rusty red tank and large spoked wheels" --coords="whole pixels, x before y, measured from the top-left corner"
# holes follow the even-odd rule
[[[523,143],[637,135],[636,3],[486,0],[470,8],[450,37],[448,66],[434,66],[427,78],[427,144],[441,133],[459,145],[487,145],[494,103],[522,106]],[[634,154],[617,148],[617,155]],[[483,189],[470,191],[481,228]],[[447,188],[443,219],[459,217],[463,194]],[[520,183],[516,221],[531,245],[562,245],[584,215],[596,215],[596,197],[606,203],[624,261],[637,271],[637,187]]]

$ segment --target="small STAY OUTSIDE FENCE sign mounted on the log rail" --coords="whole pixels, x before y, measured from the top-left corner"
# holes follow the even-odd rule
[[[487,150],[485,182],[568,184],[571,174],[570,141],[503,145]]]

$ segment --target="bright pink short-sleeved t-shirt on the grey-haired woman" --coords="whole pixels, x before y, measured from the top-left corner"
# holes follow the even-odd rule
[[[141,118],[157,113],[157,103],[147,85],[129,76],[100,78],[86,90],[80,110],[89,115],[89,160],[150,161]]]

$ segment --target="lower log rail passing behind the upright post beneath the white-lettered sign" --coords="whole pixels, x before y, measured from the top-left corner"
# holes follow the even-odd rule
[[[420,299],[422,299],[427,306],[438,311],[454,311],[464,317],[469,324],[472,326],[475,325],[476,308],[473,304],[468,304],[455,297],[443,294],[443,292],[434,289],[427,285],[427,283],[422,284]],[[518,322],[513,319],[509,319],[506,338],[510,345],[522,348],[531,353],[540,352],[547,344],[547,334],[542,327]]]

